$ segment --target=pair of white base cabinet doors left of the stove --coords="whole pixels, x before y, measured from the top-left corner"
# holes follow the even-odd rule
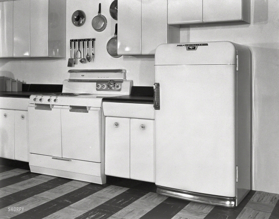
[[[27,111],[0,109],[0,157],[28,162]]]

